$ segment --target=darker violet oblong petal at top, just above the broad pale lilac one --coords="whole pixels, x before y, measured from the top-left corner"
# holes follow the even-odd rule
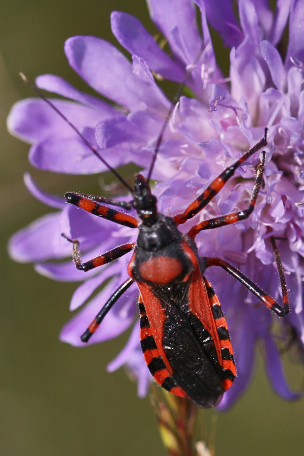
[[[182,81],[184,69],[159,47],[154,37],[134,16],[113,11],[111,29],[119,43],[130,54],[142,57],[152,71],[161,74],[165,79]]]

